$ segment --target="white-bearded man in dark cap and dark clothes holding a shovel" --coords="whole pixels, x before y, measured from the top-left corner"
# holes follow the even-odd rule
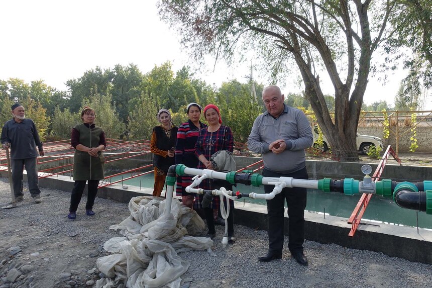
[[[15,194],[15,203],[24,200],[23,171],[26,166],[27,180],[29,182],[30,195],[35,203],[41,202],[41,190],[38,187],[38,172],[36,157],[38,152],[44,156],[42,142],[39,139],[36,125],[31,119],[26,119],[24,107],[14,104],[11,107],[14,118],[6,122],[2,129],[0,141],[4,149],[11,147],[12,182]]]

